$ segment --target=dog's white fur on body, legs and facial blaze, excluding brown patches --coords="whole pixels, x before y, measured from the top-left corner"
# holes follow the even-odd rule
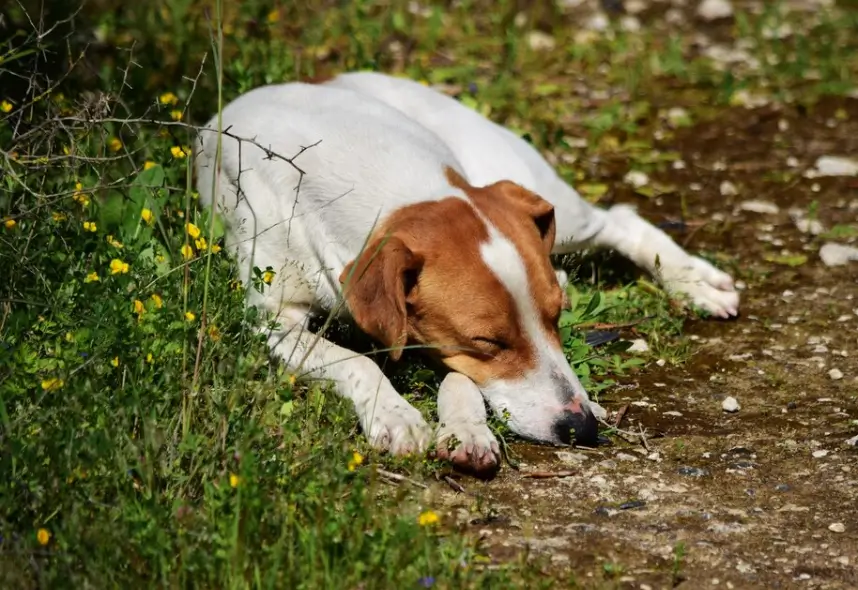
[[[689,296],[713,314],[737,313],[729,275],[689,256],[631,208],[591,206],[525,141],[418,83],[355,73],[324,85],[267,86],[241,96],[222,116],[231,134],[254,138],[284,156],[321,140],[295,162],[306,172],[297,193],[294,167],[227,136],[222,136],[222,166],[215,171],[216,134],[204,131],[195,149],[198,189],[203,203],[216,201],[226,214],[227,246],[238,255],[245,284],[251,283],[254,266],[277,271],[264,293],[248,289],[249,303],[272,312],[279,322],[269,336],[272,351],[293,370],[333,380],[379,448],[420,450],[430,430],[372,360],[317,339],[306,330],[307,321],[313,312],[337,307],[340,274],[380,219],[423,201],[467,200],[451,187],[445,167],[472,186],[511,180],[548,200],[555,208],[555,253],[612,248],[653,272],[669,291]],[[207,125],[216,126],[217,119]],[[522,379],[495,380],[481,388],[457,373],[442,382],[437,437],[455,438],[458,452],[473,463],[497,453],[482,397],[494,410],[507,411],[517,432],[554,442],[551,418],[562,410],[558,380],[587,404],[569,364],[539,326],[523,260],[485,224],[491,238],[482,246],[483,262],[513,296],[538,362]],[[565,282],[565,275],[558,273],[558,280]],[[530,392],[527,398],[516,395],[522,388]]]

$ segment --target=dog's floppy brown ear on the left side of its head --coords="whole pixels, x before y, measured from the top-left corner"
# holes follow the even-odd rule
[[[346,305],[355,322],[390,348],[395,361],[408,340],[405,298],[422,266],[422,257],[401,239],[385,236],[370,242],[340,274]]]

